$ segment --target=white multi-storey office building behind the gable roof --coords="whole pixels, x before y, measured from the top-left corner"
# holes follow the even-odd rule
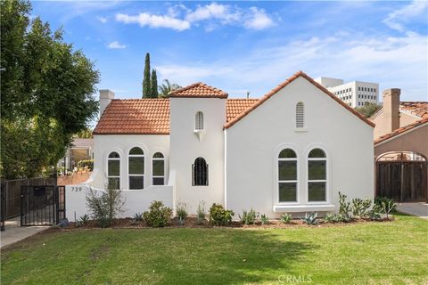
[[[319,77],[315,79],[332,94],[352,108],[362,107],[366,103],[379,103],[379,84],[362,81],[343,83],[342,79]]]

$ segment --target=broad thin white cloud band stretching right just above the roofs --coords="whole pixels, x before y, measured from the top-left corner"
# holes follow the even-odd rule
[[[195,64],[158,65],[158,77],[180,85],[204,81],[227,91],[251,90],[259,97],[298,70],[311,77],[377,82],[380,90],[401,88],[403,101],[426,101],[426,37],[311,37],[267,45],[239,57]],[[229,92],[230,94],[230,92]],[[234,94],[231,94],[232,96]],[[244,96],[244,94],[235,94]]]

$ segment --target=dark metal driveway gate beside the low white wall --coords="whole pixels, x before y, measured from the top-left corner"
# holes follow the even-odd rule
[[[21,186],[21,225],[53,225],[65,218],[65,186]]]

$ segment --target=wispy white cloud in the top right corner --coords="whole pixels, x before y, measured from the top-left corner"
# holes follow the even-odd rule
[[[390,28],[404,32],[406,30],[405,23],[409,19],[415,20],[416,16],[422,15],[422,17],[424,17],[424,22],[426,22],[427,10],[428,2],[413,1],[411,4],[408,4],[397,11],[389,13],[388,17],[383,20],[383,23]]]

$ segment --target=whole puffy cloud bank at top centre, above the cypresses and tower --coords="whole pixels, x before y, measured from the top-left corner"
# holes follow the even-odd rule
[[[141,27],[172,28],[178,31],[199,23],[205,24],[206,31],[211,31],[219,25],[235,25],[258,30],[275,25],[273,17],[263,9],[217,3],[198,5],[194,10],[184,4],[177,4],[169,7],[165,15],[154,15],[149,12],[141,12],[138,15],[118,13],[116,20],[125,24],[137,23]]]

